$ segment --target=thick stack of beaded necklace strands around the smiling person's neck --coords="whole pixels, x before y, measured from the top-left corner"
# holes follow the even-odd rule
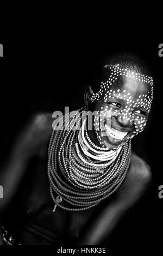
[[[76,118],[70,118],[70,121],[66,121],[69,113],[66,114],[62,118],[65,120],[64,130],[60,122],[58,129],[54,127],[51,135],[48,148],[48,178],[55,204],[53,211],[57,206],[68,211],[92,208],[117,190],[129,168],[130,141],[116,153],[108,151],[108,155],[105,150],[102,151],[103,148],[92,149],[91,143],[87,147],[87,136],[82,128],[78,129],[81,114],[85,110],[85,107],[78,109],[79,114],[74,112]],[[83,123],[82,127],[85,121]],[[58,196],[55,198],[54,194]],[[68,203],[68,206],[60,204],[61,202]]]

